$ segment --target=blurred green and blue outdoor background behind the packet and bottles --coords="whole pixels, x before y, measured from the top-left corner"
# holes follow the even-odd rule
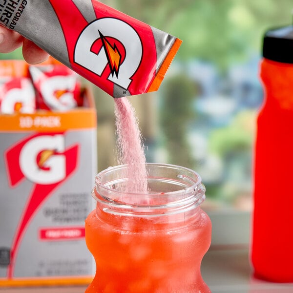
[[[292,24],[292,0],[104,0],[183,44],[156,93],[131,97],[148,162],[197,170],[206,209],[251,209],[263,34]],[[21,49],[0,54],[20,59]],[[113,100],[94,89],[98,169],[115,164]]]

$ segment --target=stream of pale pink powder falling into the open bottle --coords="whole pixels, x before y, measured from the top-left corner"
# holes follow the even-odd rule
[[[118,163],[126,164],[126,192],[146,193],[146,156],[142,135],[133,106],[126,97],[116,98],[115,116],[118,145]]]

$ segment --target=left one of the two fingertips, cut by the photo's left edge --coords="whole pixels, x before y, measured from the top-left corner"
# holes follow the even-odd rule
[[[9,53],[22,45],[23,37],[17,32],[0,26],[0,53]]]

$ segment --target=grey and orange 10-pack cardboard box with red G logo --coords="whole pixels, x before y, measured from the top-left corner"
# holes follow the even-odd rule
[[[96,110],[0,114],[0,287],[87,284],[94,260],[84,219],[94,209]]]

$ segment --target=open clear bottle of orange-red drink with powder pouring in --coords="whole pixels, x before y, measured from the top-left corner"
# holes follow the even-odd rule
[[[96,177],[97,207],[85,221],[96,261],[86,293],[210,293],[200,272],[211,222],[205,188],[187,168],[146,164],[148,192],[126,194],[126,165]]]

